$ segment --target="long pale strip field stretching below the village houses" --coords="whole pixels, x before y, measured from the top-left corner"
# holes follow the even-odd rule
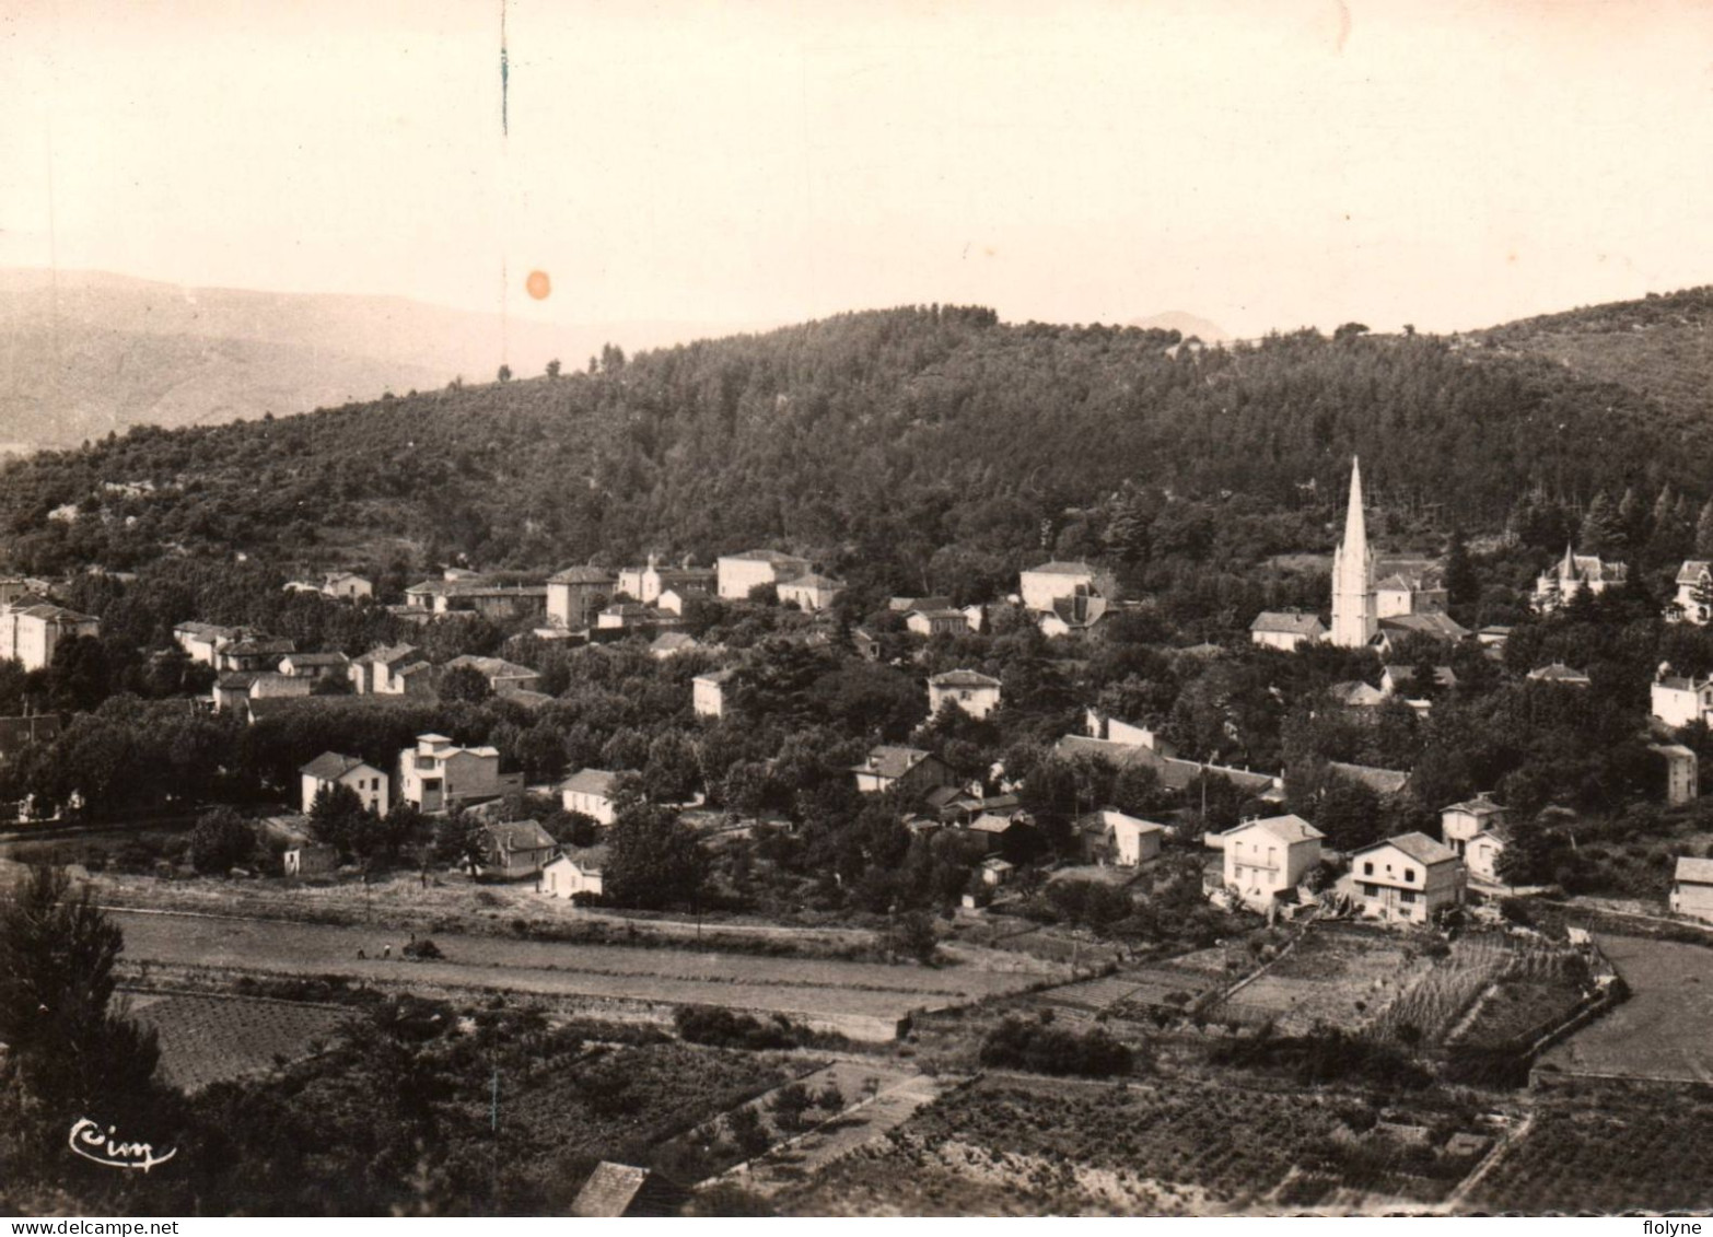
[[[444,961],[399,959],[396,932],[322,923],[278,923],[113,911],[125,930],[125,963],[204,966],[233,973],[341,975],[421,987],[493,989],[598,997],[656,1006],[711,1004],[783,1013],[853,1038],[891,1038],[913,1009],[935,1009],[1016,992],[1040,982],[1026,971],[927,968],[809,958],[509,941],[445,935]],[[380,959],[385,946],[392,959]],[[367,958],[358,958],[363,949]]]

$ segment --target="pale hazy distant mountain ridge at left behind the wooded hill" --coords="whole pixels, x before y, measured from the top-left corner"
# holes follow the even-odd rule
[[[0,269],[0,445],[75,445],[132,425],[207,425],[581,368],[606,343],[730,326],[555,327],[403,296],[180,288],[94,271]]]

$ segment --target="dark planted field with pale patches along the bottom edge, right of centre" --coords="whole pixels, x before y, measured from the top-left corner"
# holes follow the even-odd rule
[[[797,1215],[1221,1215],[1427,1204],[1473,1163],[1427,1120],[1422,1144],[1355,1097],[1215,1083],[990,1074],[856,1150],[778,1204]]]

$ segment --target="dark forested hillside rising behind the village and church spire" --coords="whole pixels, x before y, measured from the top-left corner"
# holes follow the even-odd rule
[[[1699,500],[1713,476],[1708,418],[1521,355],[1525,334],[1175,343],[934,307],[608,350],[588,372],[48,452],[0,473],[0,531],[36,572],[200,545],[415,569],[766,543],[949,588],[1048,552],[1326,548],[1357,452],[1394,533],[1497,529],[1526,492]]]

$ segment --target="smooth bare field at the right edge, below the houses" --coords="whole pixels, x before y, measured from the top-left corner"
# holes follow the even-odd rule
[[[1713,1083],[1713,949],[1598,935],[1629,999],[1547,1052],[1562,1074]]]

